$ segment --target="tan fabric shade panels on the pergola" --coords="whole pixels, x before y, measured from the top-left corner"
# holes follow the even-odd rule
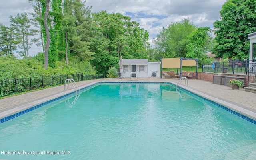
[[[182,66],[196,66],[196,61],[182,60]],[[162,59],[162,68],[180,68],[180,58]]]

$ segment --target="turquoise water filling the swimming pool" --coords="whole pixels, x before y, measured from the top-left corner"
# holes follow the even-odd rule
[[[14,160],[255,159],[256,125],[170,84],[100,84],[0,124],[0,152]]]

